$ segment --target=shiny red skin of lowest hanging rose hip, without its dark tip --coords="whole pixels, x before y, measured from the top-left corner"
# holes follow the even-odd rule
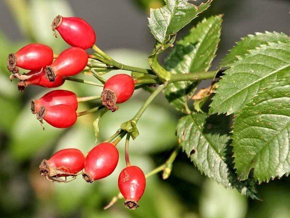
[[[125,200],[134,200],[137,202],[145,190],[145,175],[137,166],[126,167],[119,175],[118,186]]]

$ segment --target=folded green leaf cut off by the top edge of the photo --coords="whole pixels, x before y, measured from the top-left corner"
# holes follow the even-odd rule
[[[165,6],[150,10],[148,20],[151,33],[162,45],[165,45],[171,35],[176,34],[197,17],[197,14],[206,10],[211,1],[195,6],[187,0],[165,0]]]

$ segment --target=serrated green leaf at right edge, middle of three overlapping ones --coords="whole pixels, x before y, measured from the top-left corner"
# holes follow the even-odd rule
[[[261,45],[225,73],[217,83],[210,113],[238,112],[271,81],[289,75],[290,41]]]

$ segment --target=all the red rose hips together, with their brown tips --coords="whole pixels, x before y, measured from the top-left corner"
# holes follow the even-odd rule
[[[96,41],[93,28],[81,18],[58,15],[53,20],[52,29],[57,30],[72,47],[55,55],[51,47],[34,43],[8,55],[7,68],[12,72],[10,79],[20,80],[20,91],[24,91],[28,85],[59,87],[66,77],[81,73],[86,68],[90,54],[85,49],[93,47]],[[19,68],[30,72],[21,74]],[[126,102],[132,96],[134,88],[134,80],[127,74],[110,77],[104,83],[101,93],[102,105],[111,111],[117,110],[116,104]],[[45,120],[57,128],[72,126],[78,117],[77,108],[76,94],[67,90],[51,91],[38,100],[32,100],[31,104],[32,113],[36,114],[41,123]],[[39,169],[43,177],[53,182],[69,182],[67,177],[73,180],[79,174],[82,174],[85,181],[94,182],[109,176],[115,170],[118,160],[116,145],[104,142],[87,154],[74,148],[60,150],[49,160],[43,160]],[[138,207],[137,201],[143,195],[145,185],[142,170],[127,163],[118,180],[127,208]]]

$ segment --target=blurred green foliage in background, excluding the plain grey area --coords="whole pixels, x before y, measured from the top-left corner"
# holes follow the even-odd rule
[[[163,0],[138,0],[147,8],[151,2]],[[70,183],[52,183],[44,180],[38,165],[44,158],[62,148],[76,147],[84,152],[95,145],[93,120],[95,114],[80,117],[72,128],[54,129],[39,122],[30,112],[30,101],[48,90],[29,86],[24,93],[17,91],[16,81],[9,81],[6,57],[27,43],[40,42],[53,47],[56,52],[67,45],[54,38],[50,22],[57,14],[72,16],[65,0],[5,0],[7,9],[26,38],[12,42],[0,33],[0,217],[89,217],[89,218],[289,218],[289,178],[258,186],[263,202],[248,200],[236,191],[211,182],[192,166],[185,154],[180,153],[174,162],[171,176],[161,180],[161,175],[148,179],[140,207],[126,210],[123,200],[112,208],[102,208],[118,194],[118,173],[125,167],[122,141],[120,161],[108,178],[89,184],[82,178]],[[14,3],[13,3],[14,2]],[[152,6],[152,5],[151,5]],[[32,24],[31,17],[37,20]],[[31,32],[26,32],[31,31]],[[126,49],[108,52],[124,64],[147,67],[146,54]],[[132,60],[133,57],[133,60]],[[115,72],[120,73],[120,72]],[[111,76],[108,73],[106,76]],[[80,78],[91,79],[88,75]],[[66,81],[61,89],[71,90],[78,96],[100,93],[100,88]],[[131,118],[148,97],[142,90],[136,91],[128,103],[115,113],[106,113],[100,121],[99,142],[112,135],[119,125]],[[161,96],[160,96],[161,97]],[[82,103],[79,111],[93,108],[94,102]],[[131,162],[145,173],[162,164],[177,145],[174,135],[178,115],[163,98],[159,98],[146,110],[138,123],[140,136],[130,145]]]

